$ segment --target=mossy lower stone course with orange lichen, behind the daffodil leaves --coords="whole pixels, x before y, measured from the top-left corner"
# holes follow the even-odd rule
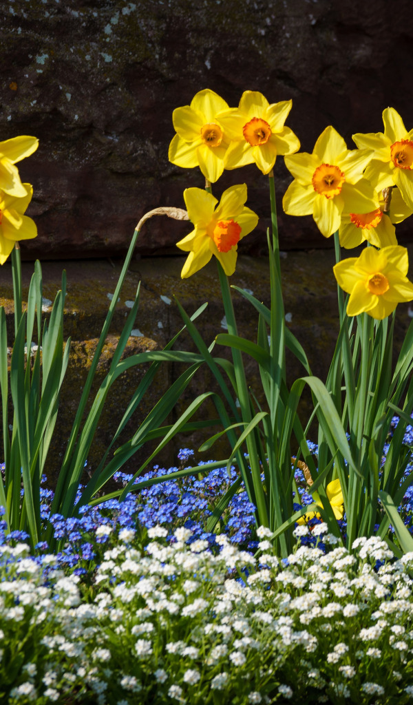
[[[410,250],[410,255],[412,256],[413,247]],[[129,308],[126,302],[130,302],[134,298],[139,281],[141,281],[140,309],[137,313],[135,328],[142,333],[142,336],[131,336],[129,338],[125,355],[132,355],[148,349],[162,348],[180,329],[182,319],[173,301],[173,295],[178,298],[189,314],[195,312],[204,302],[208,302],[208,307],[197,319],[197,327],[208,345],[214,341],[217,333],[225,332],[221,326],[223,307],[215,262],[211,262],[195,276],[182,280],[180,278],[180,269],[183,261],[182,257],[161,257],[142,258],[140,261],[132,263],[116,308],[110,335],[106,340],[106,346],[94,383],[94,391],[97,391],[109,369],[113,350],[123,329],[125,316],[128,314]],[[64,336],[65,340],[68,336],[71,336],[73,343],[68,373],[61,393],[56,431],[47,465],[47,474],[51,479],[56,477],[66,449],[82,386],[85,384],[92,353],[97,345],[97,338],[109,306],[107,295],[108,293],[113,293],[116,287],[121,264],[118,261],[111,263],[108,259],[66,263],[68,293]],[[323,380],[326,378],[338,332],[337,290],[331,270],[332,265],[333,252],[331,250],[292,251],[285,253],[281,259],[285,313],[289,314],[287,315],[289,321],[287,325],[302,343],[304,350],[306,350],[314,374],[320,376]],[[49,300],[54,299],[60,286],[62,267],[63,264],[61,262],[47,262],[43,266],[44,297]],[[4,305],[6,308],[10,345],[10,336],[13,329],[10,264],[4,265],[2,273],[4,274],[4,283],[0,305]],[[31,274],[32,264],[23,263],[23,285],[25,291],[27,291]],[[259,300],[269,304],[269,267],[265,257],[239,257],[236,272],[230,278],[230,283],[252,290]],[[238,293],[234,294],[233,302],[240,335],[251,341],[256,341],[257,314]],[[397,307],[396,348],[400,345],[402,338],[404,338],[405,331],[411,320],[409,311],[408,304]],[[44,315],[47,316],[47,312]],[[193,349],[192,341],[187,333],[180,337],[175,349]],[[217,347],[214,355],[229,355],[229,349],[223,346]],[[109,393],[104,407],[104,414],[101,417],[99,429],[97,429],[89,454],[90,467],[92,469],[97,466],[101,455],[109,446],[113,433],[118,427],[118,422],[137,384],[142,379],[145,369],[147,369],[146,365],[134,367],[116,381]],[[177,364],[162,365],[154,385],[149,389],[134,417],[128,423],[128,427],[125,429],[121,439],[123,442],[132,436],[156,401],[166,391],[168,386],[177,379],[181,369],[182,367]],[[257,374],[257,368],[247,358],[245,358],[245,369],[248,384],[252,386],[257,398],[262,400],[261,382]],[[304,369],[291,355],[288,355],[289,383],[291,384],[302,374],[305,374]],[[206,366],[202,367],[183,393],[183,397],[171,415],[171,422],[178,418],[178,415],[183,412],[197,395],[216,389],[216,381],[209,369]],[[304,403],[300,410],[303,421],[308,419],[309,412],[310,403],[307,395],[304,396]],[[211,403],[201,407],[199,418],[213,418],[214,416],[214,407],[212,407]],[[197,449],[214,432],[216,432],[216,428],[197,431],[187,436],[178,436],[156,458],[157,462],[164,463],[166,467],[174,465],[176,453],[180,447],[187,446]],[[124,470],[128,472],[136,470],[138,467],[137,463],[145,460],[153,448],[154,446],[142,448],[135,458],[128,462]],[[225,441],[223,441],[212,448],[208,455],[212,458],[224,458],[226,453],[228,453],[228,448]],[[209,459],[204,457],[204,455],[198,455],[197,457],[204,460]]]

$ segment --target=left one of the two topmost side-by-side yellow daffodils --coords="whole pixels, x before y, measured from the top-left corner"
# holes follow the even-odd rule
[[[183,168],[199,166],[204,177],[215,183],[223,172],[223,157],[229,139],[217,114],[228,104],[213,90],[199,91],[190,105],[172,114],[177,133],[169,145],[169,161]]]

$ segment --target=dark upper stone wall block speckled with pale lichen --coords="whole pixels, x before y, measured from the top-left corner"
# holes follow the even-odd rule
[[[412,0],[5,0],[1,23],[1,139],[39,137],[20,165],[39,228],[23,256],[123,254],[144,212],[183,206],[199,170],[168,163],[171,113],[209,87],[228,104],[243,90],[292,98],[288,125],[312,151],[328,124],[383,129],[390,105],[413,125]],[[278,210],[290,182],[276,164]],[[260,252],[266,179],[255,166],[224,173],[216,193],[249,185],[261,221],[242,250]],[[324,247],[310,217],[281,214],[283,249]],[[399,232],[409,238],[411,227]],[[157,219],[139,248],[175,252],[187,224]],[[411,238],[410,238],[411,239]]]

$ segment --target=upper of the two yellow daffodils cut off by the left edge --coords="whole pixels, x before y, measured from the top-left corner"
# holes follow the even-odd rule
[[[26,190],[20,181],[16,161],[35,152],[39,140],[36,137],[12,137],[0,142],[0,189],[10,196],[24,198]]]

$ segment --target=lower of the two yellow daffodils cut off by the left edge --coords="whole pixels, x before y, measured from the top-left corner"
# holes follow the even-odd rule
[[[32,200],[30,183],[23,183],[25,196],[16,198],[0,191],[0,264],[4,264],[18,240],[30,240],[37,235],[31,218],[23,215]]]

